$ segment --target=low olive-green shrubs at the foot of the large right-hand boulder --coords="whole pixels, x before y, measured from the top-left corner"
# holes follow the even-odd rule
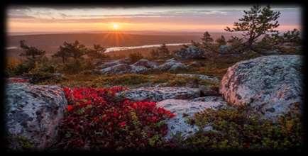
[[[182,147],[194,151],[221,150],[300,150],[300,115],[280,117],[276,123],[246,112],[246,108],[206,109],[195,114],[190,123],[199,132],[182,140]],[[214,130],[203,132],[204,126]]]

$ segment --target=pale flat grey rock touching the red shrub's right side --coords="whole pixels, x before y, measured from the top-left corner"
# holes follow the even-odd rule
[[[163,107],[172,113],[175,117],[167,120],[168,132],[165,139],[170,140],[173,135],[181,135],[184,139],[189,135],[196,133],[199,128],[195,125],[187,124],[187,119],[192,118],[194,113],[203,111],[206,108],[219,108],[226,106],[224,101],[187,101],[179,99],[167,99],[160,101],[158,107]],[[203,130],[212,130],[211,126],[205,126]]]

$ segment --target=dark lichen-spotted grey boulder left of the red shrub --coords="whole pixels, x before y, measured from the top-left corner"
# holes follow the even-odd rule
[[[33,150],[50,146],[67,106],[62,88],[9,83],[5,93],[9,148],[22,150],[25,142]]]

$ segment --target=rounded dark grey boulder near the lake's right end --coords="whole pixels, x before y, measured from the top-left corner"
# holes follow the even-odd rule
[[[204,50],[194,45],[189,45],[188,48],[182,48],[175,55],[181,59],[198,59],[204,57]]]

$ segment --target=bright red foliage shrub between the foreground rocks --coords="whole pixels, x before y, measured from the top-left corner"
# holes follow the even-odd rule
[[[58,147],[87,150],[141,150],[158,147],[167,133],[164,120],[174,114],[155,102],[116,98],[124,87],[67,88],[67,113]]]

